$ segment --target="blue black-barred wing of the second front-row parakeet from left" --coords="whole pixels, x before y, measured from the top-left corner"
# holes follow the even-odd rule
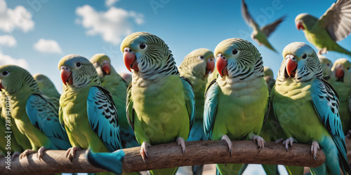
[[[103,87],[91,87],[86,101],[88,120],[108,151],[121,149],[117,109],[110,92]]]

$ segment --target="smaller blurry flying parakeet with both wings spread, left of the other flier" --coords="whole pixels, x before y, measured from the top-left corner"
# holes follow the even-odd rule
[[[282,16],[281,18],[278,18],[278,20],[275,20],[274,22],[270,23],[269,25],[265,25],[263,27],[259,27],[258,24],[253,20],[251,17],[249,10],[247,9],[246,3],[244,0],[242,0],[242,6],[241,6],[241,14],[246,22],[247,25],[249,25],[253,31],[251,33],[251,38],[256,41],[259,45],[265,45],[267,48],[270,50],[273,50],[274,52],[277,52],[273,48],[273,46],[268,42],[268,37],[277,29],[277,27],[284,21],[286,18],[285,16]]]

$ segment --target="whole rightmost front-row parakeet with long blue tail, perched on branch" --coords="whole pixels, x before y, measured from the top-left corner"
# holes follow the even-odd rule
[[[310,45],[286,45],[271,93],[274,114],[289,138],[283,142],[286,150],[297,142],[311,144],[314,159],[317,150],[324,151],[326,162],[310,168],[312,174],[340,174],[340,167],[344,174],[350,174],[338,97],[322,76],[321,64]]]

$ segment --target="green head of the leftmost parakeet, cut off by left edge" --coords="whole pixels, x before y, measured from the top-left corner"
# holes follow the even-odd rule
[[[0,66],[0,90],[9,94],[20,92],[23,87],[30,92],[39,93],[39,87],[32,75],[20,66]]]

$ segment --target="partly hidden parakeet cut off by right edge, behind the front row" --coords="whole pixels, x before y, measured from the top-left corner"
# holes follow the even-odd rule
[[[351,134],[351,112],[350,95],[351,95],[351,62],[345,58],[337,59],[331,68],[331,78],[329,83],[333,85],[338,93],[340,102],[340,120],[343,125],[344,134]]]

